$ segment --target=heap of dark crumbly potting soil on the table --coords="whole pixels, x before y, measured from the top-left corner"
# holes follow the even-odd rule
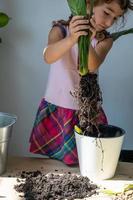
[[[74,200],[96,194],[98,187],[87,177],[71,174],[44,174],[23,171],[15,190],[26,200]]]

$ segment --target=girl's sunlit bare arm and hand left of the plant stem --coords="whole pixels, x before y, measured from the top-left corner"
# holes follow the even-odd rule
[[[44,60],[51,64],[60,59],[68,50],[77,43],[81,35],[87,35],[89,21],[84,16],[74,16],[69,24],[70,35],[63,36],[60,27],[53,27],[49,33],[48,46],[44,49]]]

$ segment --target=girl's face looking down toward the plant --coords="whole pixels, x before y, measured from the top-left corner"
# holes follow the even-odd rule
[[[101,3],[93,9],[93,18],[96,24],[96,31],[102,31],[111,27],[114,22],[124,14],[124,10],[116,0],[110,3]]]

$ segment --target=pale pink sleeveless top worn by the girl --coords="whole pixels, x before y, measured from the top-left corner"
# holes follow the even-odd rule
[[[66,37],[69,35],[66,29]],[[97,40],[92,40],[95,48]],[[77,71],[78,45],[75,44],[70,51],[50,66],[47,89],[44,98],[47,102],[60,107],[78,110],[78,104],[71,95],[79,87],[80,76]]]

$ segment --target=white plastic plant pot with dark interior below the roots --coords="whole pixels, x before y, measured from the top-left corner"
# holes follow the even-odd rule
[[[91,180],[104,180],[114,176],[125,134],[123,129],[112,125],[103,126],[103,132],[104,138],[75,132],[80,173]],[[110,137],[106,137],[107,135]]]

